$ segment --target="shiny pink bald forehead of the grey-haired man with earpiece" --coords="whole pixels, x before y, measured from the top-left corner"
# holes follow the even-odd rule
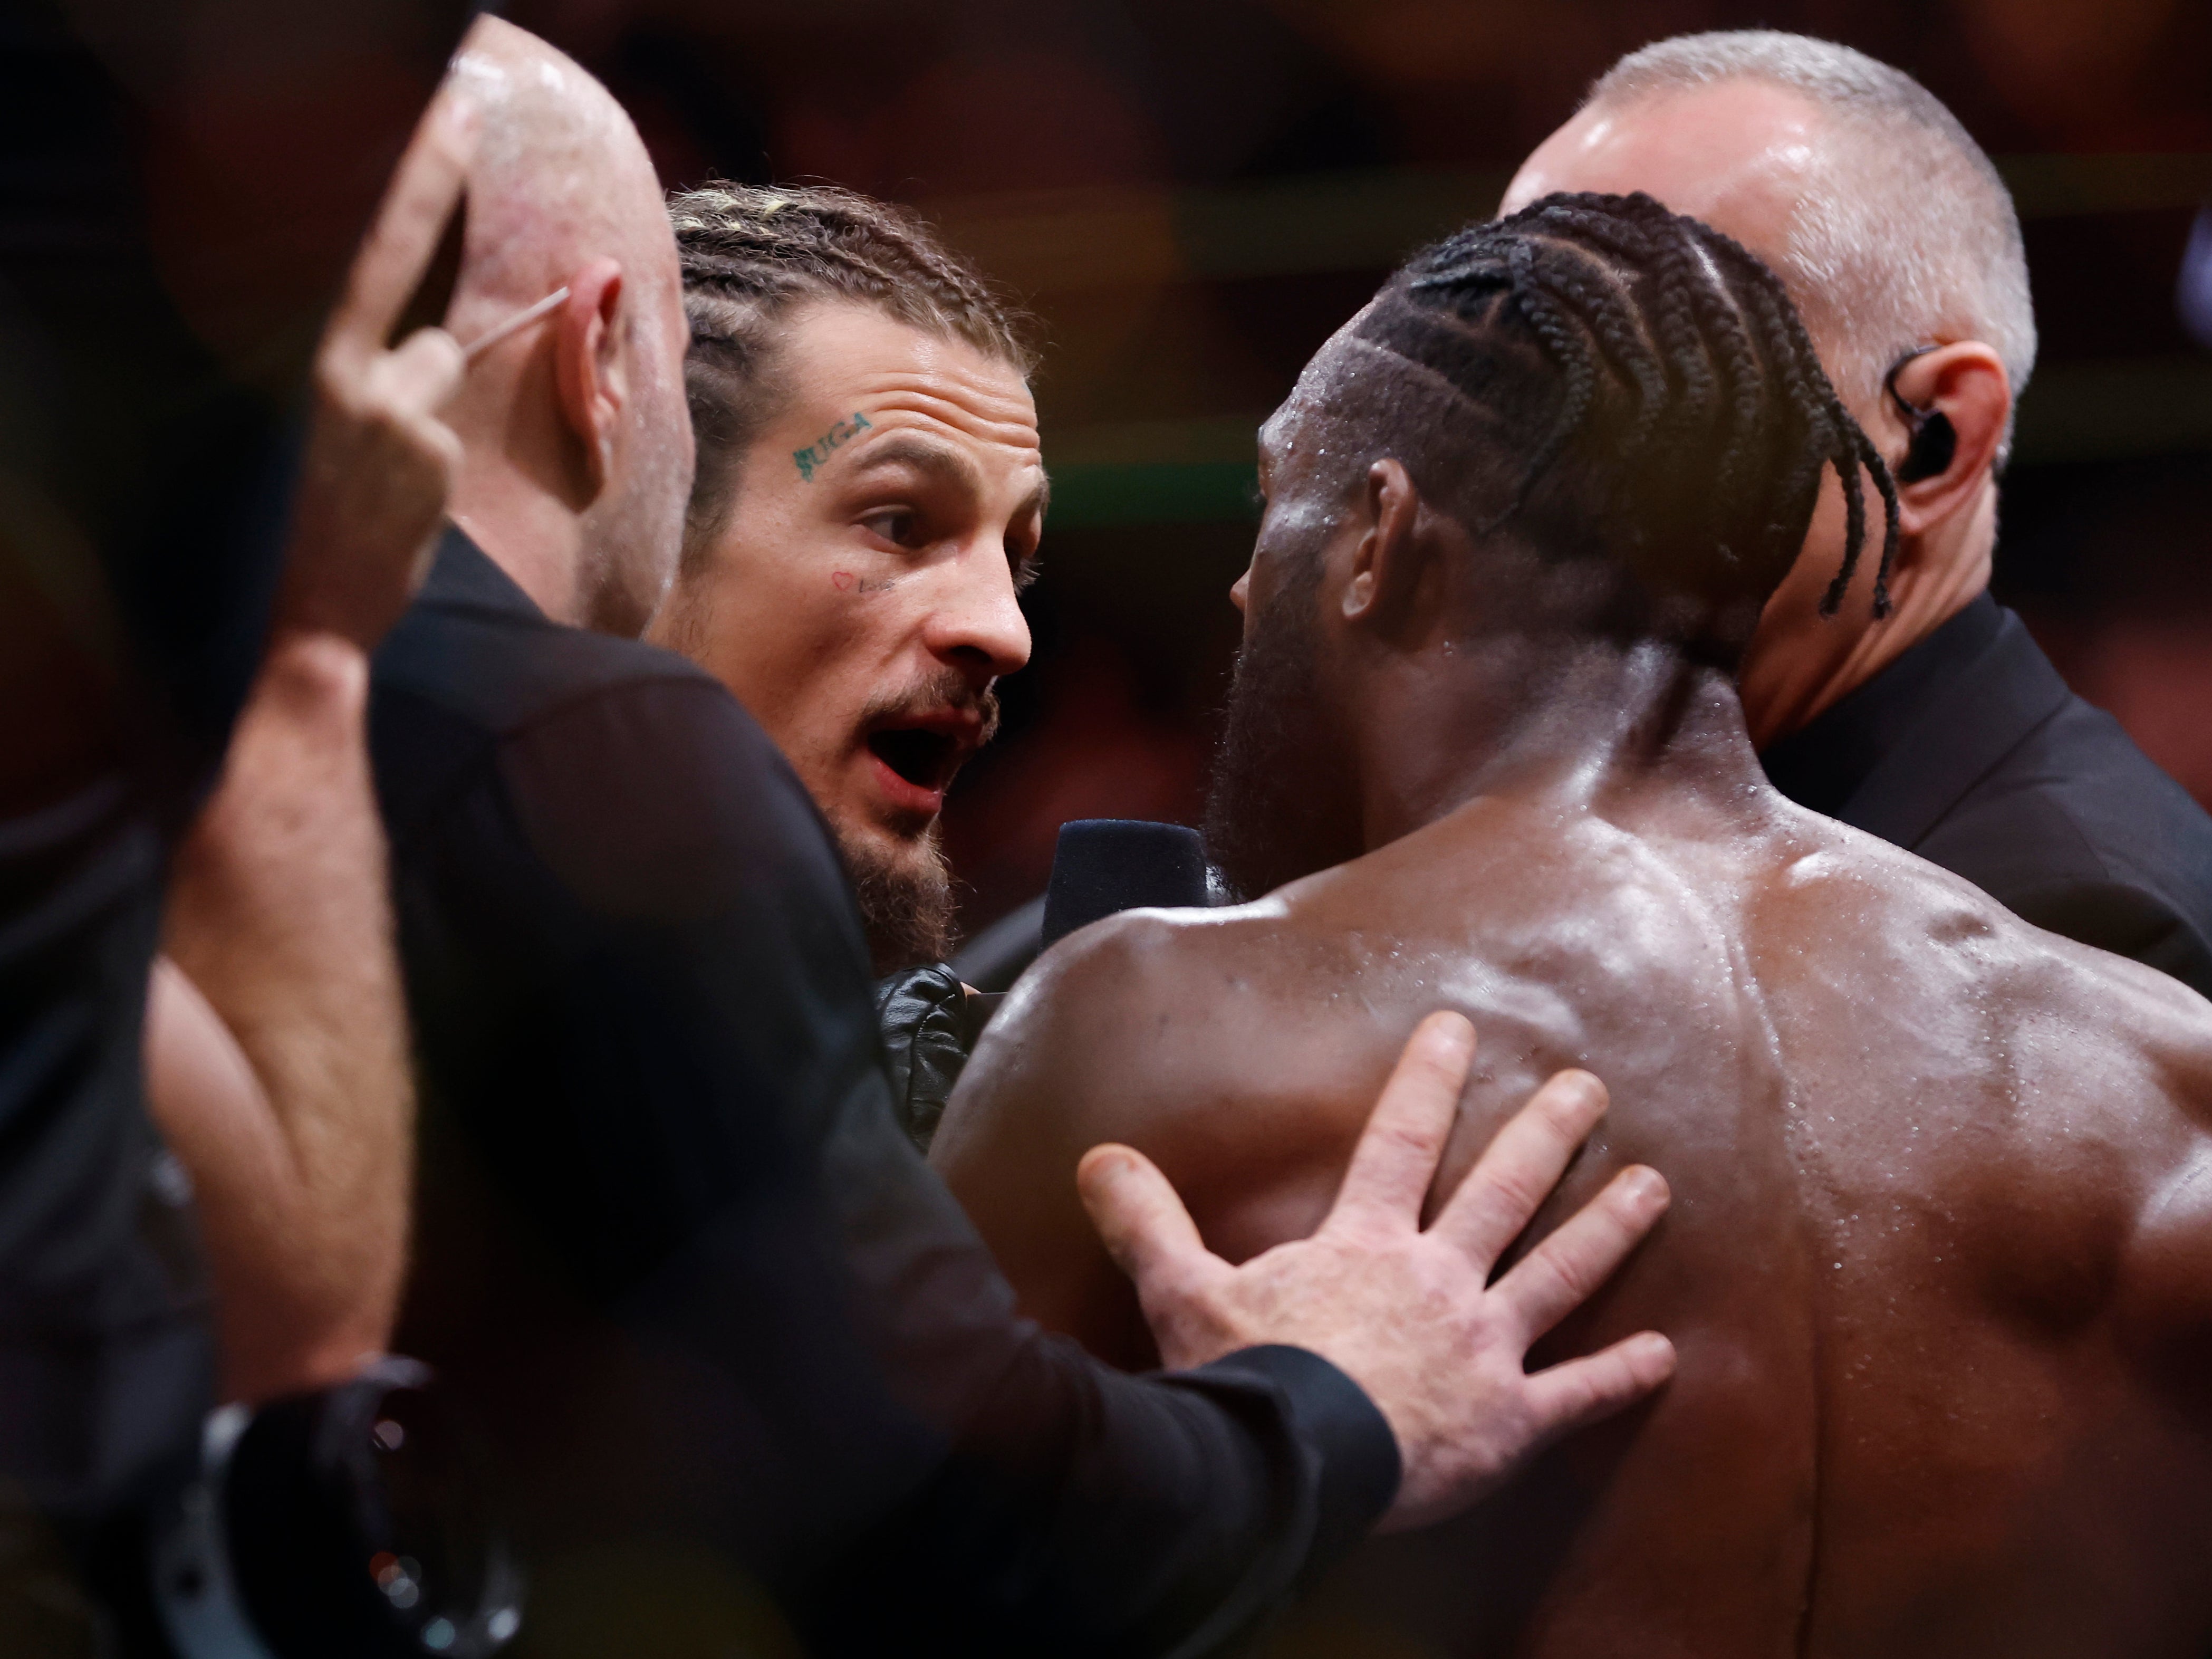
[[[1772,261],[1832,144],[1812,102],[1761,80],[1606,100],[1535,148],[1498,210],[1555,190],[1644,190]]]

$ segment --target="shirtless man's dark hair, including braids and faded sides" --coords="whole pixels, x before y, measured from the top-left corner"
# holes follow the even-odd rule
[[[1544,557],[1608,560],[1646,624],[1699,617],[1686,644],[1723,657],[1796,562],[1827,467],[1847,511],[1834,615],[1867,540],[1865,469],[1885,507],[1874,611],[1887,615],[1889,469],[1781,281],[1719,230],[1646,195],[1544,197],[1416,254],[1349,336],[1425,387],[1369,403],[1383,425],[1449,405],[1431,422],[1442,436],[1396,434],[1425,491],[1478,535],[1511,526]]]

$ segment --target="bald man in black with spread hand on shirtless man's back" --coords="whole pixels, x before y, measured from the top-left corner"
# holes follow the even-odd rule
[[[427,1139],[403,1345],[524,1482],[540,1628],[646,1593],[737,1639],[741,1564],[818,1650],[1199,1652],[1378,1517],[1464,1506],[1655,1387],[1652,1334],[1526,1376],[1522,1267],[1486,1287],[1418,1230],[1469,1060],[1449,1024],[1347,1181],[1369,1219],[1243,1267],[1157,1170],[1095,1155],[1175,1376],[1013,1314],[891,1117],[814,801],[721,684],[635,639],[690,484],[644,146],[498,20],[451,88],[482,137],[449,327],[484,349],[453,531],[372,708]],[[1537,1099],[1462,1190],[1517,1230],[1590,1121],[1588,1093]],[[1524,1267],[1595,1285],[1661,1206],[1608,1190]]]

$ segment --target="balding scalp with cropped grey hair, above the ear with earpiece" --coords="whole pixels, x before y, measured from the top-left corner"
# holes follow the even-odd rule
[[[1922,345],[1989,343],[2015,398],[2035,367],[2004,181],[1927,88],[1849,46],[1774,31],[1646,46],[1528,157],[1502,210],[1553,190],[1648,190],[1752,248],[1860,411]]]

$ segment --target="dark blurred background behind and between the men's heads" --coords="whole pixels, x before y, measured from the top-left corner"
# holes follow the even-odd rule
[[[916,204],[1042,316],[1057,493],[1029,597],[1035,664],[947,814],[969,929],[1042,887],[1066,818],[1192,821],[1237,637],[1252,429],[1396,257],[1489,215],[1599,71],[1694,29],[1869,51],[2004,166],[2044,347],[1997,593],[2212,803],[2212,349],[2179,305],[2212,201],[2203,0],[524,0],[509,15],[615,88],[668,184],[823,177]]]

